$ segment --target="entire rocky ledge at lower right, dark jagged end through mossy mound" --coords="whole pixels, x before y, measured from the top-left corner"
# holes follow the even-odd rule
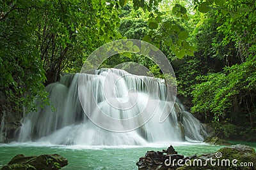
[[[255,150],[246,145],[232,145],[221,148],[215,153],[206,153],[200,156],[184,157],[175,152],[170,146],[163,152],[148,151],[136,163],[138,169],[157,170],[225,170],[225,169],[256,169]]]

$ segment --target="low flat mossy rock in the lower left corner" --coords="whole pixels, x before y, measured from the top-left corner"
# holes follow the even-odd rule
[[[61,167],[67,166],[68,160],[61,157],[61,155],[40,155],[25,157],[23,154],[16,155],[1,170],[58,170]]]

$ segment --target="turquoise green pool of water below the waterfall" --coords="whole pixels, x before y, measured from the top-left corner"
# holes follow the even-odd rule
[[[223,146],[205,143],[172,143],[175,150],[182,155],[200,155],[216,152]],[[45,143],[11,143],[0,145],[0,166],[7,164],[15,155],[41,155],[58,153],[68,159],[65,170],[79,169],[138,169],[136,162],[148,150],[163,150],[164,144],[148,146],[65,146]]]

